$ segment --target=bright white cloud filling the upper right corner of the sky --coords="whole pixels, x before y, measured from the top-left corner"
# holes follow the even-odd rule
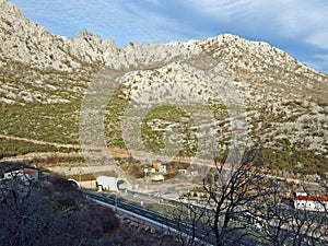
[[[224,22],[288,38],[306,37],[328,31],[328,2],[325,0],[187,0],[200,12]],[[233,24],[233,23],[232,23]],[[247,27],[248,26],[248,27]]]

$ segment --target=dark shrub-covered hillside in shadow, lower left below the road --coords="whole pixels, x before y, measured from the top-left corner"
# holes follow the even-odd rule
[[[133,246],[175,241],[162,229],[93,202],[54,174],[39,171],[32,183],[3,178],[3,173],[21,168],[21,164],[0,163],[1,245]]]

